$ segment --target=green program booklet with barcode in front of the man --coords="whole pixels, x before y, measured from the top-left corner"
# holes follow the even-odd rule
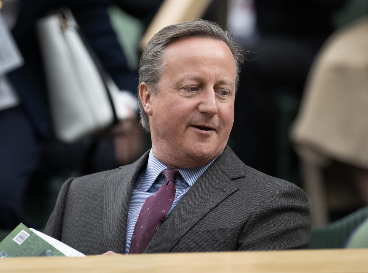
[[[70,246],[19,224],[0,242],[0,258],[26,256],[85,256]]]

